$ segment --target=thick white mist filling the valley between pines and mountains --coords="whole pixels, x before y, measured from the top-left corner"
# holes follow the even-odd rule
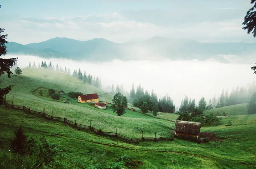
[[[17,66],[24,68],[35,61],[36,67],[38,62],[46,60],[49,64],[51,61],[54,67],[58,66],[64,69],[70,68],[72,74],[74,69],[86,71],[99,76],[103,88],[107,86],[116,87],[117,84],[123,85],[124,89],[130,91],[132,83],[136,87],[141,83],[144,90],[157,93],[158,98],[169,93],[176,106],[180,106],[181,100],[185,95],[195,98],[196,103],[204,96],[209,100],[214,95],[218,97],[222,89],[228,89],[229,93],[237,86],[247,86],[256,80],[256,75],[250,69],[254,63],[218,63],[213,60],[161,60],[161,61],[99,61],[90,63],[85,61],[74,61],[67,59],[50,58],[44,59],[35,56],[25,55],[7,55],[3,58],[18,57]]]

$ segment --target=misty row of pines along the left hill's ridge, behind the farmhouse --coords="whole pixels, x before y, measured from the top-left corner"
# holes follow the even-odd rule
[[[36,68],[35,61],[33,62],[33,66],[31,66],[31,62],[29,61],[29,67]],[[38,68],[52,69],[52,70],[55,70],[56,72],[63,72],[63,73],[69,74],[71,76],[70,69],[69,68],[67,69],[67,67],[65,67],[63,69],[61,66],[58,65],[58,63],[56,64],[56,67],[54,69],[54,66],[52,65],[52,62],[50,62],[47,65],[46,61],[44,60],[44,61],[41,62],[41,64],[40,64],[40,62],[38,62]],[[96,86],[100,89],[102,88],[102,83],[101,83],[101,80],[98,76],[95,78],[95,76],[93,76],[92,74],[87,75],[85,71],[84,71],[84,74],[83,74],[81,72],[81,69],[79,69],[78,72],[77,72],[77,69],[74,70],[72,76],[79,78],[84,83],[91,84],[91,85]]]

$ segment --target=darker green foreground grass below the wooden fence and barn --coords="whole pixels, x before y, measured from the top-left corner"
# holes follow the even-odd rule
[[[44,135],[49,143],[56,143],[63,158],[58,165],[74,168],[79,161],[85,168],[111,166],[123,155],[143,162],[139,169],[187,168],[187,169],[250,169],[256,167],[256,115],[225,117],[219,126],[202,127],[201,131],[215,132],[224,140],[198,144],[192,141],[142,142],[138,145],[123,143],[108,137],[81,132],[61,122],[51,122],[22,111],[4,109],[0,106],[0,168],[9,152],[9,141],[17,127],[22,124],[26,135],[36,140]],[[225,126],[228,121],[232,126]],[[65,144],[64,144],[65,143]],[[66,146],[64,146],[66,145]],[[184,160],[183,160],[184,158]],[[195,161],[195,164],[193,163]],[[67,163],[65,163],[67,162]],[[15,162],[13,162],[15,164]],[[97,166],[98,164],[101,167]],[[122,166],[127,168],[125,166]],[[17,168],[17,166],[7,168]],[[25,167],[24,167],[25,168]],[[51,168],[58,168],[52,166]],[[121,168],[121,167],[120,167]],[[117,168],[118,169],[118,168]]]

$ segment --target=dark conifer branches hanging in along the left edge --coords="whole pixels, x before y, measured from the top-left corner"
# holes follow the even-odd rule
[[[0,6],[1,8],[1,6]],[[6,41],[7,34],[2,34],[4,32],[3,28],[0,28],[0,57],[6,55]],[[15,65],[17,62],[18,58],[10,58],[10,59],[3,59],[0,58],[0,76],[2,74],[7,74],[8,78],[11,78],[12,71],[10,70],[12,66]],[[2,81],[0,81],[0,84]],[[12,89],[12,85],[5,87],[5,88],[0,88],[0,105],[3,104],[3,96],[7,95]]]

